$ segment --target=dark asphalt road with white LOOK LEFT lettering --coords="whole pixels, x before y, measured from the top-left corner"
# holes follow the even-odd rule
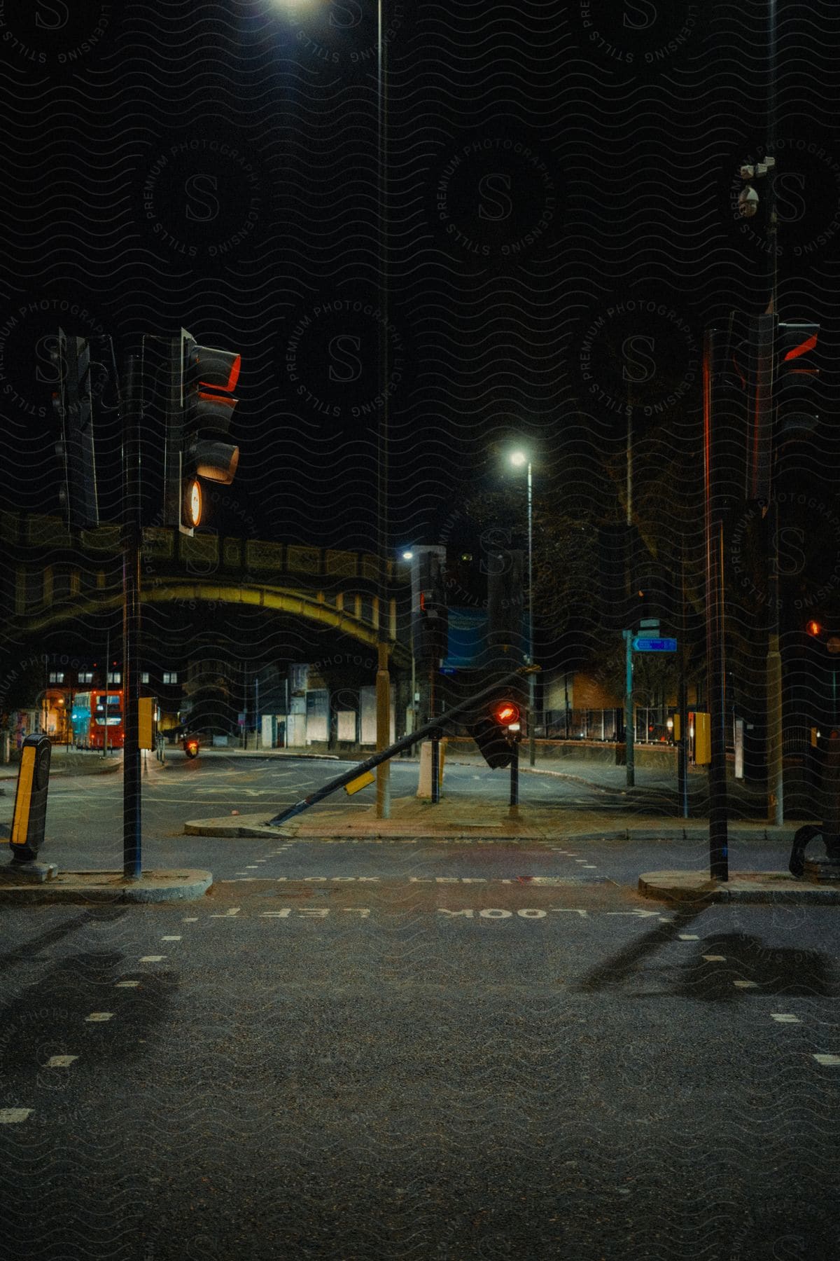
[[[1,1256],[840,1253],[835,909],[676,913],[639,842],[184,837],[335,763],[184,765],[147,857],[210,895],[3,908]],[[54,789],[49,856],[118,865],[118,779]]]

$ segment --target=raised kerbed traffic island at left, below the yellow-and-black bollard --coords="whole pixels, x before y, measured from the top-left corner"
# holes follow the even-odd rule
[[[0,868],[0,903],[194,902],[213,884],[213,874],[199,870],[144,871],[139,880],[121,871],[57,871],[42,880],[16,866]]]

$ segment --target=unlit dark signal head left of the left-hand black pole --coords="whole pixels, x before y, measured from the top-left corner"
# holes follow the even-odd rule
[[[53,407],[60,424],[55,454],[62,462],[58,501],[74,530],[93,530],[99,523],[93,446],[93,401],[91,398],[91,347],[83,337],[58,330],[52,353],[58,367]]]

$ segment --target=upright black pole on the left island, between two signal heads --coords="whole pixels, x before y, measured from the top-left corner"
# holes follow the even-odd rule
[[[139,644],[140,644],[140,361],[130,356],[122,396],[122,686],[125,743],[122,754],[122,874],[139,880],[141,863]],[[106,662],[106,720],[107,720]],[[107,731],[107,726],[106,726]]]

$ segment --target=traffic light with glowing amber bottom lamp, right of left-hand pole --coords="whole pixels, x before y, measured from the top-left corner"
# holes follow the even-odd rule
[[[199,346],[181,329],[169,357],[164,523],[191,535],[203,517],[201,482],[230,485],[239,448],[225,441],[237,400],[242,357]]]

